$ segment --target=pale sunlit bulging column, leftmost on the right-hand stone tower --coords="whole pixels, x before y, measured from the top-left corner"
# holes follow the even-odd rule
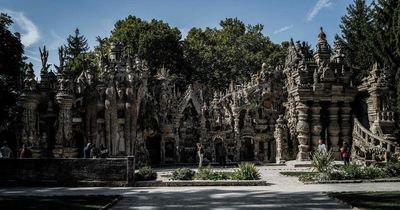
[[[298,133],[297,139],[299,141],[299,153],[297,154],[297,160],[303,161],[308,160],[308,140],[310,135],[310,126],[308,124],[308,106],[303,102],[296,104],[298,122],[296,130]]]

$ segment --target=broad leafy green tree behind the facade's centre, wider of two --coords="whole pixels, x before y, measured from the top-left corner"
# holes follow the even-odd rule
[[[192,28],[184,40],[185,59],[190,64],[190,80],[223,90],[231,81],[243,82],[260,70],[284,60],[284,47],[262,34],[263,25],[248,25],[237,18],[220,22],[221,29]]]

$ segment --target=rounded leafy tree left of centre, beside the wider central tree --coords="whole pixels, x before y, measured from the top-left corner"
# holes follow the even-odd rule
[[[115,23],[111,41],[121,42],[130,56],[138,55],[148,62],[151,75],[161,67],[179,74],[182,69],[183,50],[181,32],[160,20],[150,22],[128,16]]]

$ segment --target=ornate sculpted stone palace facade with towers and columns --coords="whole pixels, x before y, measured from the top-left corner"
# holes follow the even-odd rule
[[[180,91],[165,68],[150,80],[147,62],[117,43],[107,59],[86,62],[76,80],[64,67],[62,48],[57,76],[48,72],[45,48],[41,55],[41,81],[29,66],[21,95],[20,143],[37,149],[37,156],[79,157],[92,143],[113,157],[135,154],[142,163],[194,163],[202,143],[205,161],[217,162],[224,150],[228,162],[281,163],[308,160],[323,139],[339,157],[341,143],[352,143],[353,101],[362,91],[368,92],[374,135],[394,133],[384,81],[373,71],[369,86],[354,87],[340,40],[332,51],[322,28],[315,53],[291,41],[284,66],[264,63],[250,81],[232,82],[211,99],[204,84]]]

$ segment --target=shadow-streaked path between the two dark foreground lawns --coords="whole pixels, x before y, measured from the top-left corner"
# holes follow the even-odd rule
[[[113,209],[348,209],[323,193],[193,189],[140,190],[125,194]]]

